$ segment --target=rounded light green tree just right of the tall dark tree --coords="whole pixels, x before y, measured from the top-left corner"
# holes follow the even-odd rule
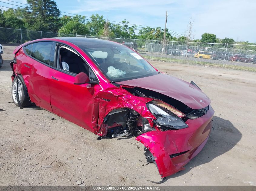
[[[90,34],[90,30],[88,29],[85,23],[85,16],[75,15],[74,17],[67,17],[62,18],[65,19],[67,22],[64,24],[59,33],[63,34]],[[62,35],[60,35],[62,36]]]

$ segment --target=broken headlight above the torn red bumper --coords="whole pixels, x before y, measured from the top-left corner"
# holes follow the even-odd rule
[[[155,122],[160,126],[165,126],[168,129],[184,129],[188,127],[181,118],[164,107],[148,103],[148,109],[155,116]]]

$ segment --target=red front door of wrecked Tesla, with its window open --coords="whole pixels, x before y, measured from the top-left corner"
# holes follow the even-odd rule
[[[70,49],[70,47],[67,48]],[[60,49],[66,52],[61,53]],[[77,54],[77,57],[73,54],[72,59],[66,58],[69,67],[66,70],[62,69],[60,61],[63,60],[64,56],[71,55],[70,52],[67,52],[70,51],[68,49],[65,49],[64,45],[57,46],[55,70],[49,74],[52,111],[58,116],[94,132],[94,129],[97,129],[98,121],[98,102],[95,99],[95,88],[99,88],[99,85],[74,84],[75,76],[79,72],[85,72],[82,69],[79,71],[78,68],[85,67],[84,69],[87,71],[85,73],[90,76],[90,79],[91,76],[94,76],[93,81],[97,79],[95,79],[95,75],[91,72],[85,60],[74,49],[71,49],[72,54]],[[72,60],[76,61],[71,63]],[[74,64],[78,64],[79,67],[75,67]]]

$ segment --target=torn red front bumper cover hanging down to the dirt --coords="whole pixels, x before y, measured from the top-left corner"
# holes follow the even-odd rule
[[[184,170],[206,144],[212,128],[214,110],[197,119],[188,119],[188,128],[169,131],[150,131],[136,137],[153,154],[161,177]]]

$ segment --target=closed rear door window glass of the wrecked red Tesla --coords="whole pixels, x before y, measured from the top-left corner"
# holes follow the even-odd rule
[[[31,50],[31,56],[34,57],[35,59],[38,59],[41,62],[44,62],[45,64],[49,65],[53,44],[55,44],[55,43],[53,43],[53,42],[33,43],[32,50]]]

